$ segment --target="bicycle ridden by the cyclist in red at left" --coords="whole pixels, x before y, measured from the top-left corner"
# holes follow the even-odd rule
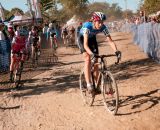
[[[15,63],[15,69],[13,71],[12,82],[14,83],[15,88],[20,88],[24,61],[26,59],[27,54],[24,52],[19,52],[15,53],[14,55],[16,63]]]

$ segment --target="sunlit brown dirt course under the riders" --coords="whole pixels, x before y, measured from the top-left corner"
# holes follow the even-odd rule
[[[59,48],[59,63],[25,81],[19,91],[0,93],[0,130],[160,130],[160,66],[132,43],[131,36],[112,34],[123,58],[111,68],[119,87],[117,116],[101,100],[85,106],[78,86],[83,58]],[[101,53],[111,53],[100,38]],[[108,64],[113,64],[110,59]],[[1,77],[3,77],[1,75]]]

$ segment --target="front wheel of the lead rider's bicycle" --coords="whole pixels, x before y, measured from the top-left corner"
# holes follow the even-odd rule
[[[105,108],[116,115],[119,102],[118,87],[113,75],[109,71],[105,71],[102,74],[102,94]]]

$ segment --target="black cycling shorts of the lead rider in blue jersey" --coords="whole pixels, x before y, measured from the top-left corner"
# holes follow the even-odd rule
[[[92,36],[92,37],[88,38],[88,46],[94,54],[99,54],[96,36]],[[83,35],[79,35],[79,37],[78,37],[78,47],[79,47],[81,53],[86,52],[86,50],[84,49]]]

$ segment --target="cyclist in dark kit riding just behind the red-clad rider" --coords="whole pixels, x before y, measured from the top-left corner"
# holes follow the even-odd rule
[[[38,28],[36,26],[32,26],[31,31],[29,32],[28,41],[31,44],[31,53],[32,60],[34,61],[35,48],[38,47],[40,49],[40,35],[38,32]]]

